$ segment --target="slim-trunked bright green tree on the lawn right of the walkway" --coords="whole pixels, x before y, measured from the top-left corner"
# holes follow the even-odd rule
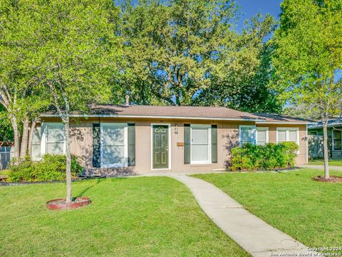
[[[328,120],[341,114],[342,4],[340,0],[285,0],[274,34],[277,88],[302,115],[323,124],[324,177],[328,169]]]

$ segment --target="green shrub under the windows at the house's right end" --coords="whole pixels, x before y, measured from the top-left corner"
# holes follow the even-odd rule
[[[246,143],[232,148],[229,169],[256,171],[294,167],[297,151],[298,145],[295,142],[266,143],[264,146]]]

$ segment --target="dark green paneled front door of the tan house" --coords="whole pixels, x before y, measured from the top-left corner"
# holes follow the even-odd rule
[[[169,126],[153,125],[152,158],[153,168],[169,167]]]

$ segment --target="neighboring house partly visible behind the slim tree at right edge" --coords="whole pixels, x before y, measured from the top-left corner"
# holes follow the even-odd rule
[[[321,122],[308,125],[308,133],[316,143],[312,147],[318,148],[319,157],[323,158],[323,126]],[[319,142],[319,143],[318,143]],[[319,146],[317,146],[319,144]],[[342,118],[328,121],[328,148],[331,158],[342,158]],[[316,154],[316,149],[314,154]]]

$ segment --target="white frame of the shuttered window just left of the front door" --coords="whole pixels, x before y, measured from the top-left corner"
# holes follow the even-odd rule
[[[110,163],[108,165],[103,164],[103,126],[120,126],[123,128],[123,141],[125,142],[124,148],[123,148],[123,156],[124,161],[123,163]],[[103,122],[100,123],[100,155],[101,155],[101,161],[100,166],[101,168],[123,168],[128,167],[128,124],[127,123],[107,123]]]

